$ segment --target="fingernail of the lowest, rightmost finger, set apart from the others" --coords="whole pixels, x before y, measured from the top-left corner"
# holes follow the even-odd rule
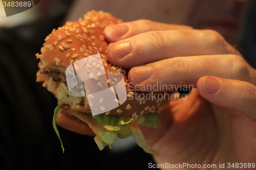
[[[215,93],[220,88],[220,82],[213,77],[204,77],[204,90],[207,93]]]

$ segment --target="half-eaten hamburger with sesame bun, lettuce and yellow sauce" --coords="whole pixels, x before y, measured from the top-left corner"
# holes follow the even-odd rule
[[[120,22],[122,20],[109,13],[90,11],[83,19],[68,21],[65,26],[54,29],[46,37],[41,54],[36,54],[40,59],[36,81],[43,82],[42,86],[58,100],[53,126],[59,139],[56,124],[76,133],[95,136],[100,150],[106,145],[111,148],[117,138],[133,135],[145,152],[158,155],[146,144],[139,126],[159,128],[160,116],[157,111],[168,100],[156,99],[159,93],[144,93],[134,89],[127,79],[129,69],[115,66],[106,58],[109,42],[104,39],[104,28]],[[98,70],[98,73],[93,74],[93,70]],[[90,78],[82,78],[84,73]],[[72,84],[72,81],[77,84]],[[102,90],[117,92],[118,88],[113,87],[117,87],[115,85],[118,83],[121,84],[120,92],[125,95],[124,100],[115,98],[115,95],[114,98],[108,95],[104,99],[93,96],[97,92],[101,94]],[[97,104],[105,101],[104,107],[97,107]],[[117,105],[106,109],[110,103]]]

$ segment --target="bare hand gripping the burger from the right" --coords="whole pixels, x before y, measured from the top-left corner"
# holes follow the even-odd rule
[[[137,89],[195,87],[160,112],[160,129],[141,127],[158,164],[256,162],[256,70],[220,34],[149,20],[108,26],[104,34],[109,61],[131,68]]]

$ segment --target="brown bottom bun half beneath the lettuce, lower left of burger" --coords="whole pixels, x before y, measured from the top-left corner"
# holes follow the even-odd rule
[[[57,115],[56,115],[56,124],[62,128],[67,130],[88,135],[95,136],[93,130],[89,127],[89,125],[85,122],[82,122],[79,118],[69,113],[70,107],[61,106]]]

